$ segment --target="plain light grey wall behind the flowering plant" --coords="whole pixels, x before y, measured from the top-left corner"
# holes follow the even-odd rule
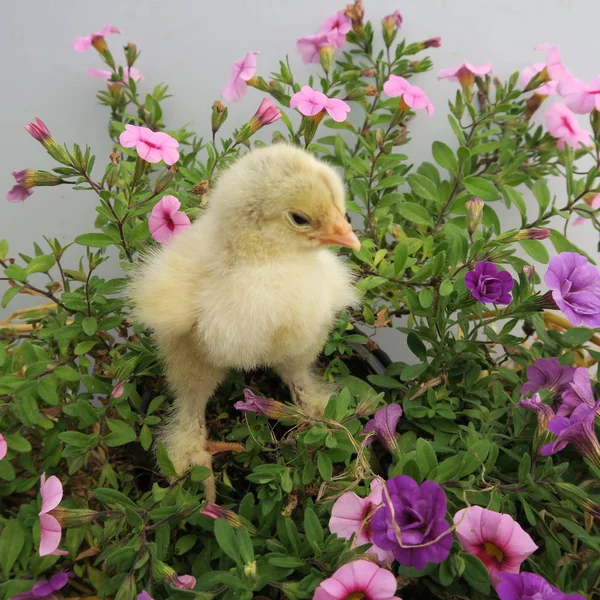
[[[111,35],[107,41],[118,58],[122,57],[120,47],[128,41],[142,50],[137,64],[145,77],[139,84],[141,90],[149,91],[161,81],[170,86],[173,97],[164,103],[167,124],[188,123],[207,136],[210,106],[219,98],[234,60],[247,50],[259,50],[258,73],[268,77],[287,53],[296,79],[306,81],[318,67],[301,63],[295,40],[316,33],[321,22],[344,4],[345,0],[4,0],[0,37],[2,196],[13,185],[11,170],[54,166],[23,129],[35,116],[46,122],[55,139],[91,145],[99,167],[105,164],[104,157],[111,150],[106,135],[108,110],[95,99],[103,83],[86,74],[89,68],[102,68],[102,63],[93,49],[86,54],[74,52],[70,44],[76,37],[98,31],[107,23],[119,27],[123,35]],[[401,35],[411,42],[442,37],[442,47],[428,51],[433,71],[414,80],[436,108],[433,118],[422,112],[411,123],[412,141],[403,151],[417,164],[430,160],[433,140],[452,143],[453,139],[446,103],[456,84],[438,81],[439,69],[463,60],[476,64],[491,61],[494,72],[506,77],[514,69],[542,62],[545,54],[534,52],[534,46],[553,43],[561,45],[563,61],[578,77],[589,80],[600,72],[598,0],[366,0],[365,5],[377,27],[383,15],[400,9],[404,16]],[[230,106],[228,125],[233,128],[243,123],[260,99],[260,92],[250,89],[241,102]],[[585,123],[583,118],[581,122]],[[564,184],[555,182],[553,191],[560,198]],[[42,235],[67,242],[93,230],[94,206],[91,192],[76,193],[64,186],[38,188],[18,204],[2,197],[0,237],[8,239],[12,255],[31,252],[32,241],[39,242]],[[514,217],[503,218],[507,227],[517,225]],[[591,226],[571,229],[571,234],[596,255],[597,235]],[[73,248],[65,262],[70,257],[76,265],[79,254],[79,249]],[[32,304],[32,300],[37,302],[17,297],[0,316]],[[393,332],[382,334],[389,340]]]

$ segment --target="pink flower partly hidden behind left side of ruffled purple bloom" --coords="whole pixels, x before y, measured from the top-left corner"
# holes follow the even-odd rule
[[[371,544],[368,552],[377,555],[381,562],[391,564],[394,555],[389,550],[382,550],[375,544],[371,529],[371,518],[381,506],[381,501],[381,483],[376,479],[371,482],[371,493],[366,498],[361,498],[354,492],[342,494],[331,509],[329,530],[345,540],[354,536],[353,548]]]

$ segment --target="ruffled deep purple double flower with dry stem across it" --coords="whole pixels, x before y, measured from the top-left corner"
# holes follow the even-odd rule
[[[383,506],[371,521],[375,544],[391,550],[401,565],[415,569],[424,569],[429,562],[443,562],[450,553],[452,535],[445,519],[446,496],[441,486],[434,481],[419,486],[412,477],[399,475],[386,487]],[[443,535],[445,532],[447,535]],[[439,536],[441,539],[432,543]]]

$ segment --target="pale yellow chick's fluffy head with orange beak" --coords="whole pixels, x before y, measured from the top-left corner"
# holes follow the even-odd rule
[[[360,248],[344,217],[339,175],[294,146],[276,144],[248,153],[223,173],[211,204],[230,218],[235,215],[232,233],[246,246]]]

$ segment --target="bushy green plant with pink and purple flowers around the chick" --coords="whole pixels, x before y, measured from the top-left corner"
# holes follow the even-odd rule
[[[90,148],[59,144],[36,119],[26,130],[58,166],[14,171],[6,196],[35,202],[37,187],[72,186],[98,216],[95,231],[31,255],[0,241],[2,307],[43,300],[0,321],[2,598],[597,593],[600,271],[565,233],[581,220],[600,230],[597,81],[576,79],[553,46],[507,81],[489,63],[444,69],[456,143],[434,142],[414,166],[401,152],[410,122],[434,112],[417,85],[432,62],[418,56],[441,40],[398,41],[401,26],[398,11],[383,17],[380,41],[356,0],[299,38],[319,75],[308,82],[289,61],[263,78],[248,51],[202,138],[164,123],[166,86],[141,94],[136,46],[123,64],[109,48],[119,29],[74,42],[107,67],[90,74],[105,83],[114,150],[99,168]],[[227,131],[247,93],[256,113]],[[536,125],[550,95],[560,99]],[[362,303],[325,346],[323,376],[339,392],[323,416],[286,403],[269,373],[221,386],[208,426],[238,452],[216,461],[207,503],[209,469],[178,474],[156,442],[170,392],[123,290],[152,244],[202,214],[220,173],[264,145],[253,136],[266,127],[343,173],[361,242],[344,252]],[[565,182],[555,198],[549,177]],[[519,229],[502,231],[500,204]],[[547,265],[543,277],[530,259]],[[109,260],[121,277],[102,276]],[[414,360],[378,348],[383,328]]]

